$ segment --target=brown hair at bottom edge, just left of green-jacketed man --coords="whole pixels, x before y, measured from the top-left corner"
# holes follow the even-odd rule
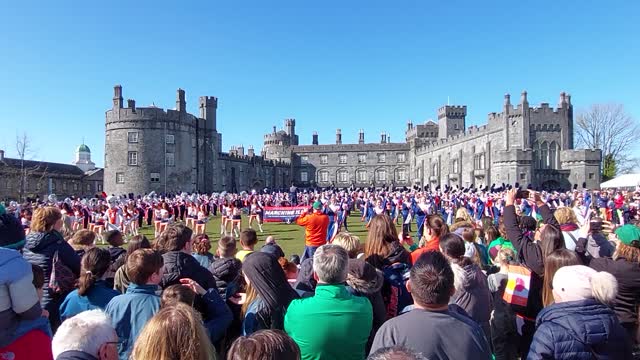
[[[282,330],[260,330],[237,338],[227,360],[299,360],[300,348]]]

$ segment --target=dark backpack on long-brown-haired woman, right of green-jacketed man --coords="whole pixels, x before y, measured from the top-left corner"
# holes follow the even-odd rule
[[[387,319],[398,316],[405,307],[413,304],[413,298],[406,285],[409,269],[409,265],[405,263],[395,263],[382,269],[384,284],[381,291],[387,308]]]

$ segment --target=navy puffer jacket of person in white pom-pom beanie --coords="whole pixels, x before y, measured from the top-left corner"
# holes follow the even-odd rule
[[[631,341],[614,312],[593,299],[553,304],[536,320],[527,359],[632,358]]]

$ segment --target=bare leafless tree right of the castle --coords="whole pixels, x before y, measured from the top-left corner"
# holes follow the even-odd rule
[[[637,166],[632,147],[640,140],[640,124],[622,104],[593,104],[578,114],[575,124],[580,147],[602,150],[603,178]]]

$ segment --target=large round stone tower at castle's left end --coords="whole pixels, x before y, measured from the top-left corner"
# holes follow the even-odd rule
[[[205,96],[199,99],[199,116],[187,113],[182,89],[174,110],[137,107],[131,99],[125,107],[122,87],[116,85],[113,106],[106,112],[105,191],[213,191],[210,180],[221,146],[217,107],[217,98]]]

